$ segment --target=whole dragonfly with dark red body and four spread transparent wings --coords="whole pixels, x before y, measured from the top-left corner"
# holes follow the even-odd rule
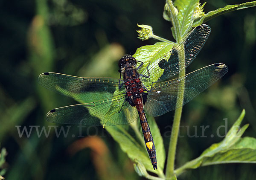
[[[124,55],[118,63],[120,78],[40,74],[37,81],[43,87],[86,102],[50,110],[47,120],[105,127],[129,124],[139,117],[146,150],[154,170],[157,169],[156,149],[145,113],[155,117],[175,110],[227,73],[225,64],[215,63],[169,80],[195,59],[209,34],[208,25],[197,26],[182,42],[144,68],[142,61],[137,61],[131,55]],[[182,53],[185,60],[183,62],[179,61]],[[152,82],[151,78],[159,73],[158,70],[163,73],[157,81]],[[181,91],[183,98],[180,98]]]

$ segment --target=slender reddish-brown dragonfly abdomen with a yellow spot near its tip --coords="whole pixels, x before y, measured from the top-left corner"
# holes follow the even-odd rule
[[[145,116],[145,112],[143,109],[143,100],[141,97],[138,97],[138,98],[134,99],[133,103],[139,113],[140,125],[141,125],[141,129],[142,129],[142,133],[144,136],[144,141],[145,141],[146,149],[148,151],[149,158],[151,160],[153,168],[157,169],[156,148],[155,148],[154,140],[153,140],[153,137],[152,137],[149,125],[148,125],[148,120]]]

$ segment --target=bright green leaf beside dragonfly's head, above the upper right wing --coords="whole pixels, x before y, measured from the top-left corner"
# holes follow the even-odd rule
[[[168,53],[172,50],[172,47],[174,46],[174,43],[169,42],[157,42],[154,45],[148,45],[148,46],[142,46],[137,49],[135,54],[133,55],[134,58],[137,59],[137,61],[143,61],[144,65],[140,68],[141,72],[146,72],[145,68],[148,66],[149,63],[151,63],[151,66],[158,67],[159,60],[164,57],[165,54],[168,54],[166,56],[166,59],[169,59],[171,56],[171,53]],[[157,61],[158,60],[158,61]],[[150,81],[148,78],[148,83],[143,82],[145,86],[151,85],[150,82],[155,82],[158,80],[158,78],[161,77],[163,74],[163,69],[155,68],[154,72],[151,73],[152,77],[150,77]]]

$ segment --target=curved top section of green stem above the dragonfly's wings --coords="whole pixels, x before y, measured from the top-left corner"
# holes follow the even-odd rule
[[[173,6],[172,0],[166,0],[166,3],[168,4],[169,9],[171,11],[171,20],[172,20],[172,24],[173,24],[173,27],[174,27],[176,41],[178,43],[178,42],[181,41],[180,40],[181,36],[180,36],[180,26],[179,26],[178,17],[176,15],[175,7]]]

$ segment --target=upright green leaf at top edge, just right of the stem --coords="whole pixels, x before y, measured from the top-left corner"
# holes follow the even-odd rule
[[[198,4],[199,0],[176,0],[174,3],[175,7],[178,9],[177,17],[180,26],[181,39],[191,30],[195,8]],[[174,33],[172,34],[174,35]]]

